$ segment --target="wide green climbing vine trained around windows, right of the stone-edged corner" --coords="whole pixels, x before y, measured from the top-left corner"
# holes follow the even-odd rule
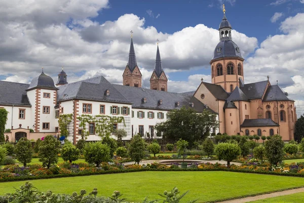
[[[83,114],[77,117],[79,120],[79,128],[82,130],[81,136],[82,138],[86,138],[89,136],[89,129],[87,129],[87,125],[89,123],[95,124],[95,133],[97,136],[104,137],[109,136],[113,131],[113,124],[115,123],[124,123],[126,126],[125,119],[122,116],[106,116],[106,115],[87,115]]]

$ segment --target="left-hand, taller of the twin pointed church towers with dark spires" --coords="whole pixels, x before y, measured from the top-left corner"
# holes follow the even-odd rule
[[[123,73],[123,85],[132,87],[141,87],[141,73],[136,63],[135,50],[133,45],[133,36],[131,31],[131,45],[129,52],[129,62],[127,63],[126,69]]]

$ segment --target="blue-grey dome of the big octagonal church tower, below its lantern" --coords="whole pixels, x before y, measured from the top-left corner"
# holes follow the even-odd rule
[[[220,50],[218,50],[218,48],[220,48]],[[243,59],[240,48],[232,40],[221,40],[214,49],[212,60],[224,57],[236,57]]]

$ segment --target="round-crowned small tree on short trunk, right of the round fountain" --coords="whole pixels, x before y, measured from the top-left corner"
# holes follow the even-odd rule
[[[241,154],[241,148],[236,144],[220,143],[216,146],[215,152],[218,159],[227,161],[227,167],[230,167],[230,162]]]

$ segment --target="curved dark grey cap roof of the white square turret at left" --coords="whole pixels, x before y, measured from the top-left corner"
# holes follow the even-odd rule
[[[27,91],[36,88],[57,90],[54,80],[50,76],[47,76],[43,71],[40,76],[32,79]]]

